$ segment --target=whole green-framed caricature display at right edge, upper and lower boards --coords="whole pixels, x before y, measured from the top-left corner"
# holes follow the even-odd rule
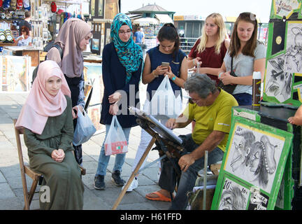
[[[273,0],[260,106],[236,106],[211,209],[302,208],[300,0]]]

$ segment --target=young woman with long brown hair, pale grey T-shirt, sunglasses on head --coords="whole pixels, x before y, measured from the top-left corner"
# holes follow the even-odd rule
[[[264,77],[266,47],[257,41],[257,29],[256,15],[240,13],[233,28],[229,50],[217,73],[224,85],[236,84],[233,97],[240,106],[252,105],[253,71],[260,71],[262,80]],[[230,74],[232,58],[232,71],[236,76]]]

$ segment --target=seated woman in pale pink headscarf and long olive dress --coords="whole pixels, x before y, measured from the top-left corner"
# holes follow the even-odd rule
[[[50,200],[40,209],[82,209],[84,186],[73,155],[71,92],[58,64],[42,62],[16,127],[24,127],[31,169],[43,175]]]

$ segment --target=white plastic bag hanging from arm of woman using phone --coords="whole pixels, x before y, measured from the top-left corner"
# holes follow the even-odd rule
[[[175,97],[168,76],[161,81],[150,103],[147,100],[146,103],[149,113],[157,119],[177,118],[182,112],[181,94]]]

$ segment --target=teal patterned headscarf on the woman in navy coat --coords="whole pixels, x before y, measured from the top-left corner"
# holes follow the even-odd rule
[[[138,70],[143,60],[143,50],[141,49],[141,46],[134,43],[132,36],[126,43],[121,41],[118,31],[122,25],[128,25],[132,31],[130,18],[124,13],[119,13],[115,15],[115,18],[113,19],[110,37],[115,45],[115,50],[117,51],[120,62],[126,68],[126,83],[128,83],[132,73]]]

